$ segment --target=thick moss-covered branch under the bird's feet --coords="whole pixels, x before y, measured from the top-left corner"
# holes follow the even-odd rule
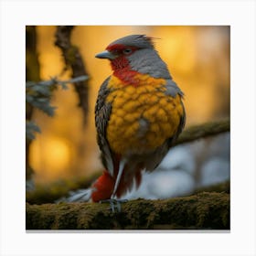
[[[27,229],[229,229],[229,194],[203,192],[165,200],[29,205]]]

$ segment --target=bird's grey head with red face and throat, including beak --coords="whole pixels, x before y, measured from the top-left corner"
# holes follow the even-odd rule
[[[155,78],[169,78],[165,62],[155,50],[153,37],[131,35],[113,41],[95,57],[110,59],[115,75],[148,74]]]

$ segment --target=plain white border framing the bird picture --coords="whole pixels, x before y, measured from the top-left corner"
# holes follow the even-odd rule
[[[255,255],[254,1],[1,1],[1,255]],[[231,26],[231,232],[26,233],[25,26]],[[101,39],[101,38],[99,38]]]

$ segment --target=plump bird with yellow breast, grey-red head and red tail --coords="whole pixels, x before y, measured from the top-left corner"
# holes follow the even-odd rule
[[[142,173],[163,160],[186,123],[184,93],[155,49],[155,37],[129,35],[95,56],[108,59],[112,74],[95,105],[102,175],[76,199],[118,201],[138,188]],[[112,207],[113,209],[113,207]]]

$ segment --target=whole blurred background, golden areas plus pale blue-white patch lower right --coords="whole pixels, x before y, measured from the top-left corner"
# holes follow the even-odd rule
[[[38,67],[39,77],[35,80],[50,80],[56,76],[59,80],[69,80],[70,70],[63,71],[65,62],[61,50],[55,46],[57,27],[37,26],[33,29],[37,65],[27,52],[27,67]],[[129,34],[155,37],[155,48],[185,93],[186,126],[229,118],[229,27],[74,27],[71,43],[79,49],[90,77],[88,122],[83,125],[78,95],[72,85],[68,90],[59,88],[53,92],[51,104],[57,107],[53,117],[39,110],[33,111],[31,119],[37,123],[41,133],[35,134],[36,138],[27,149],[27,161],[33,169],[32,179],[36,186],[47,186],[59,180],[78,180],[101,171],[94,105],[102,81],[112,71],[109,61],[95,59],[94,56],[113,40]],[[33,72],[29,76],[31,78],[33,80]],[[161,177],[163,170],[172,170],[169,179],[166,179],[166,172],[164,178]],[[152,180],[161,184],[161,189],[167,189],[161,192],[156,186],[157,191],[152,198],[158,197],[159,191],[162,197],[179,196],[195,187],[229,180],[229,133],[176,146],[159,166],[154,179],[145,175],[144,180],[147,179],[149,181],[144,183],[145,187],[142,186],[144,190],[141,190],[140,197],[148,187],[156,186]],[[146,193],[149,195],[148,191]],[[132,193],[129,197],[135,196]]]

